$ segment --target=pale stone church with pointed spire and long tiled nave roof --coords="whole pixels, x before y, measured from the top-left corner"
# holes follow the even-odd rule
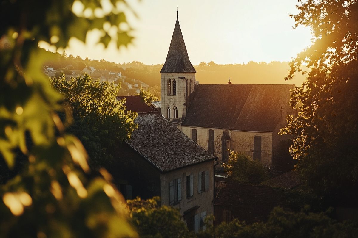
[[[185,135],[226,162],[229,150],[245,153],[266,166],[275,164],[280,128],[294,85],[199,84],[176,19],[161,73],[160,111]]]

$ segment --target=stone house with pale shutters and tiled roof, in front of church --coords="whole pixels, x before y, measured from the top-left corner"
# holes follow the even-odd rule
[[[121,100],[124,97],[117,97]],[[109,169],[126,198],[160,196],[161,205],[178,208],[188,228],[203,229],[213,214],[216,156],[178,130],[140,96],[126,96],[138,129],[121,145]]]

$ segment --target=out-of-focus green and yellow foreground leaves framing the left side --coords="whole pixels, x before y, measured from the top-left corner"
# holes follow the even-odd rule
[[[106,6],[102,5],[105,4]],[[100,42],[127,45],[123,0],[2,1],[0,7],[0,153],[22,171],[0,187],[1,237],[136,237],[121,194],[104,169],[88,179],[87,153],[56,112],[62,96],[42,74],[52,54],[92,29]],[[76,14],[72,11],[76,12]],[[127,9],[130,10],[129,7]],[[103,28],[117,29],[110,36]],[[107,28],[106,28],[107,29]]]

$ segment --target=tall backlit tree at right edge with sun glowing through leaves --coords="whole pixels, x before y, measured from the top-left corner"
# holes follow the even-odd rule
[[[290,152],[297,171],[320,196],[350,199],[358,191],[358,3],[355,0],[299,1],[299,25],[312,30],[312,45],[290,62],[286,80],[306,74],[291,91],[283,134],[294,135]],[[356,205],[356,204],[355,204]]]

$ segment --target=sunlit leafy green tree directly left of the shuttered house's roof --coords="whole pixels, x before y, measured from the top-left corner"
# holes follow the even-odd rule
[[[110,166],[116,146],[130,139],[137,128],[134,123],[137,113],[125,113],[125,99],[116,99],[119,86],[93,82],[87,74],[69,81],[62,75],[50,81],[65,96],[64,105],[71,106],[73,122],[67,131],[83,143],[91,168]]]

